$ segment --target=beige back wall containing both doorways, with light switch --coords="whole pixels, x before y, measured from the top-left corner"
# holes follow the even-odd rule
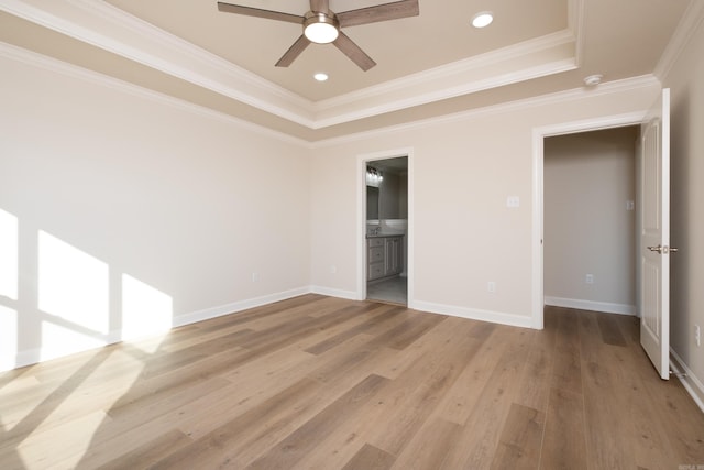
[[[410,305],[530,326],[534,129],[642,111],[658,91],[585,91],[320,145],[311,179],[312,284],[359,292],[358,161],[410,149]],[[508,209],[508,196],[518,196],[520,207]]]

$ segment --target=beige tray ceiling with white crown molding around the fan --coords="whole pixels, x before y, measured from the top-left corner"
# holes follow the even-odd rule
[[[647,76],[690,1],[700,0],[420,0],[419,17],[344,29],[377,63],[366,73],[316,44],[275,67],[300,26],[219,12],[216,0],[0,0],[0,41],[319,141],[575,89],[591,74]],[[231,2],[309,10],[308,0]],[[485,10],[494,23],[472,28]]]

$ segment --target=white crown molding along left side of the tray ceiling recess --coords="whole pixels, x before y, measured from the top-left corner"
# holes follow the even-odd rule
[[[109,3],[0,0],[0,10],[311,128],[312,102]]]

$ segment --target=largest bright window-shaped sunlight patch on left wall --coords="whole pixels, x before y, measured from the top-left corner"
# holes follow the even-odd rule
[[[79,327],[107,335],[109,269],[102,261],[42,230],[38,233],[38,308]],[[64,336],[62,335],[62,338]],[[63,340],[63,339],[62,339]],[[43,336],[43,347],[51,336]]]

